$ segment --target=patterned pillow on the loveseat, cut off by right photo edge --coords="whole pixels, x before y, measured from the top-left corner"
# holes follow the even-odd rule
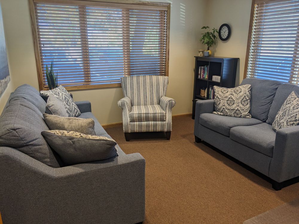
[[[293,91],[277,112],[272,127],[274,131],[299,125],[299,95]]]

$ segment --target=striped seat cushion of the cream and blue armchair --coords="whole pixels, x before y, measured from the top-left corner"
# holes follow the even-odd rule
[[[131,122],[165,121],[166,113],[160,105],[132,106],[129,117]]]

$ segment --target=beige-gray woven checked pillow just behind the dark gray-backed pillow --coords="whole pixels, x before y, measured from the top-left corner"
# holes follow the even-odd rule
[[[43,113],[50,130],[77,131],[86,135],[95,135],[94,119],[78,117],[62,117]]]

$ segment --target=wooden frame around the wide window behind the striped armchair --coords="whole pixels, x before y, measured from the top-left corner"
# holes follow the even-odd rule
[[[166,62],[165,62],[165,76],[168,76],[169,73],[169,40],[170,40],[170,3],[163,2],[151,2],[151,1],[138,1],[138,0],[28,0],[29,1],[29,10],[30,10],[30,19],[31,19],[31,28],[33,34],[33,45],[34,45],[34,54],[36,61],[36,70],[37,70],[37,79],[39,84],[39,90],[48,90],[48,87],[45,87],[43,82],[42,74],[42,62],[39,51],[39,39],[35,18],[35,9],[34,2],[50,2],[50,3],[60,3],[60,4],[91,4],[97,5],[97,3],[107,3],[107,4],[129,4],[129,5],[144,5],[151,7],[166,7],[167,8],[167,30],[166,30]],[[126,73],[127,74],[127,73]],[[84,90],[84,89],[100,89],[100,88],[117,88],[121,87],[120,83],[112,84],[96,84],[96,85],[80,85],[80,86],[66,86],[67,90]]]

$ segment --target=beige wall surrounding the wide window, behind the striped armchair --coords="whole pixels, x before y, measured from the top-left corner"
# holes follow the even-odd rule
[[[157,0],[158,1],[158,0]],[[204,0],[170,2],[170,60],[167,96],[176,100],[173,114],[191,113],[193,94],[194,58],[199,49],[200,26],[204,16]],[[1,0],[7,51],[9,55],[10,83],[1,97],[6,102],[14,88],[24,83],[38,89],[33,39],[28,0]],[[71,91],[74,99],[89,100],[92,111],[102,124],[121,122],[121,109],[117,101],[123,97],[121,88]]]

